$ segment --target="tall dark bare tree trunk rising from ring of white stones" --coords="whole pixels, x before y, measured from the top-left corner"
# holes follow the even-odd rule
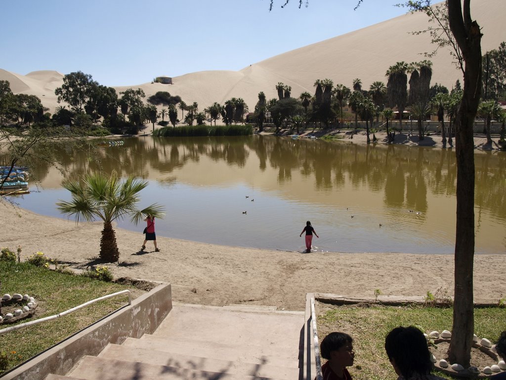
[[[473,123],[481,91],[481,32],[471,19],[471,0],[447,0],[451,32],[465,61],[462,101],[455,120],[457,161],[457,221],[455,233],[455,290],[453,327],[448,359],[469,367],[474,333],[473,263],[474,141]]]

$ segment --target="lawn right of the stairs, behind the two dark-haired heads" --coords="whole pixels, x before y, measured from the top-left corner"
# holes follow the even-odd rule
[[[344,331],[353,337],[355,363],[349,368],[355,380],[396,379],[385,352],[385,336],[397,326],[413,325],[428,333],[451,330],[451,308],[404,306],[384,307],[359,305],[332,306],[317,302],[318,338],[321,341],[332,331]],[[506,328],[506,310],[502,308],[475,309],[475,333],[480,338],[496,341]],[[436,355],[438,359],[443,354]],[[490,360],[490,364],[495,364]],[[482,368],[481,368],[482,369]],[[450,379],[444,373],[437,373]]]

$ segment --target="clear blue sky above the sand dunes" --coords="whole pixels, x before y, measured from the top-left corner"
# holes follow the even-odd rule
[[[249,64],[399,16],[397,0],[4,0],[0,68],[106,86]]]

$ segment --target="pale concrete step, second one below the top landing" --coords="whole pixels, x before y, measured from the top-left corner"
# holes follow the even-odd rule
[[[100,353],[100,358],[136,361],[146,364],[166,365],[209,372],[226,372],[260,377],[276,377],[292,380],[299,377],[299,368],[283,367],[260,363],[243,363],[213,358],[203,358],[179,353],[168,353],[157,350],[109,344]]]

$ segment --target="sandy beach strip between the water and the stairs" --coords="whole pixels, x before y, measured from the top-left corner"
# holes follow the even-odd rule
[[[170,215],[168,216],[170,217]],[[453,255],[409,253],[309,253],[220,246],[158,236],[160,252],[144,236],[116,229],[120,261],[113,275],[171,283],[179,302],[223,306],[254,304],[303,310],[305,293],[350,297],[424,296],[438,289],[453,294]],[[96,264],[101,222],[79,223],[46,217],[0,202],[0,246],[22,247],[22,259],[36,251],[72,268]],[[294,237],[297,239],[298,237]],[[497,302],[506,295],[504,255],[475,256],[475,301]]]

